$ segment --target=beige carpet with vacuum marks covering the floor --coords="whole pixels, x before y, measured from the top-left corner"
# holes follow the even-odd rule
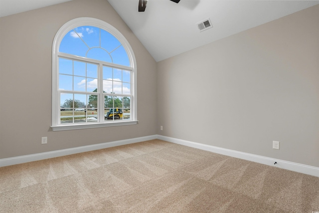
[[[0,168],[1,213],[312,213],[319,178],[161,140]]]

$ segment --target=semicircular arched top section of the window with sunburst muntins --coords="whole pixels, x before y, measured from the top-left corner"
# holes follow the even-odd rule
[[[136,64],[133,50],[122,33],[91,17],[72,19],[59,29],[53,43],[53,53],[58,52],[132,68]]]

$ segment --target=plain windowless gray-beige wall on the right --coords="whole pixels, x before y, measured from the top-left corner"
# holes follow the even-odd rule
[[[319,5],[160,61],[157,81],[158,134],[319,167]]]

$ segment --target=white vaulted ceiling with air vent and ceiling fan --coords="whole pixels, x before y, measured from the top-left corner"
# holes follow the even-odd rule
[[[0,17],[69,0],[0,0]],[[278,19],[319,0],[108,0],[156,61]],[[210,18],[213,28],[199,32]]]

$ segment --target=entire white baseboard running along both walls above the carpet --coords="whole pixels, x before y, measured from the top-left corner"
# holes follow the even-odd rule
[[[167,142],[171,142],[171,143],[175,143],[175,144],[180,144],[180,145],[184,145],[184,146],[188,146],[188,147],[193,147],[196,149],[201,149],[201,150],[205,150],[205,151],[209,151],[209,152],[213,152],[213,153],[217,153],[217,154],[221,154],[221,155],[226,155],[226,156],[239,158],[239,159],[243,159],[243,160],[247,160],[247,161],[253,161],[256,163],[260,163],[260,164],[275,166],[278,168],[282,168],[282,169],[291,170],[294,172],[299,172],[299,173],[319,177],[319,168],[318,167],[293,163],[293,162],[289,162],[289,161],[283,161],[283,160],[274,159],[274,158],[268,158],[268,157],[259,156],[259,155],[253,155],[253,154],[244,153],[244,152],[238,152],[238,151],[234,151],[234,150],[224,149],[224,148],[220,148],[220,147],[214,147],[214,146],[210,146],[210,145],[206,145],[206,144],[200,144],[200,143],[196,143],[196,142],[185,141],[185,140],[161,136],[161,135],[151,135],[151,136],[145,136],[145,137],[140,137],[140,138],[132,138],[132,139],[127,139],[127,140],[113,141],[113,142],[107,142],[107,143],[102,143],[102,144],[94,144],[94,145],[83,146],[83,147],[75,147],[75,148],[64,149],[64,150],[37,153],[37,154],[32,154],[32,155],[17,156],[17,157],[12,157],[12,158],[4,158],[4,159],[0,159],[0,167],[11,166],[11,165],[15,165],[15,164],[22,164],[22,163],[27,163],[27,162],[32,162],[32,161],[39,161],[39,160],[44,160],[44,159],[49,159],[49,158],[56,158],[56,157],[61,157],[61,156],[66,156],[66,155],[72,155],[72,154],[77,154],[77,153],[82,153],[82,152],[93,151],[93,150],[122,146],[122,145],[127,145],[127,144],[139,143],[142,141],[148,141],[148,140],[154,140],[154,139],[160,139],[163,141],[167,141]],[[277,162],[277,164],[274,164],[275,162]]]

